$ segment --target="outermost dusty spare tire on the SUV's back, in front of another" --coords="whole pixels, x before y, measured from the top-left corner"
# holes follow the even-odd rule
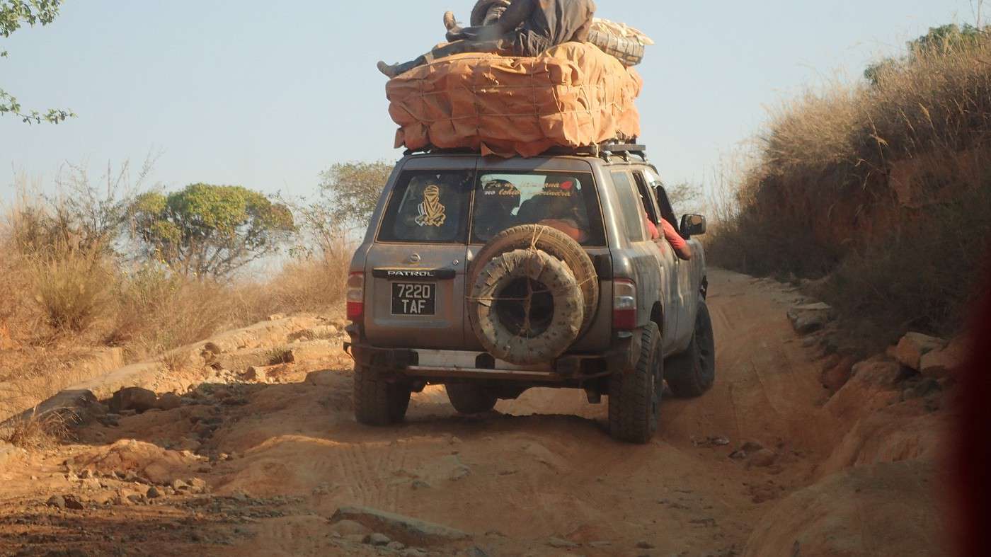
[[[529,284],[530,292],[506,293],[521,282]],[[530,311],[533,292],[553,300],[543,308],[547,314],[536,318],[536,327]],[[508,304],[512,310],[506,309]],[[495,358],[518,366],[550,362],[568,350],[582,327],[582,306],[582,291],[568,266],[532,248],[489,260],[476,276],[468,303],[472,329],[482,345]],[[510,319],[507,313],[524,317]]]

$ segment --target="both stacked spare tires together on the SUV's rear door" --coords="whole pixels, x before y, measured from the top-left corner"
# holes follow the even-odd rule
[[[495,235],[472,264],[470,280],[472,330],[495,358],[516,365],[563,354],[591,323],[599,303],[599,279],[588,254],[546,226],[517,226]]]

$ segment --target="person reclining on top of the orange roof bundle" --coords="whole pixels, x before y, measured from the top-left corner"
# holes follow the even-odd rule
[[[465,53],[502,56],[539,56],[570,41],[586,42],[596,13],[593,0],[513,0],[493,25],[452,27],[447,45],[403,63],[379,62],[389,78],[435,59]]]

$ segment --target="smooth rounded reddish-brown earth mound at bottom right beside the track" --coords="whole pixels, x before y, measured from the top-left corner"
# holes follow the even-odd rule
[[[834,474],[765,514],[743,555],[941,555],[945,525],[933,479],[933,465],[922,461]]]

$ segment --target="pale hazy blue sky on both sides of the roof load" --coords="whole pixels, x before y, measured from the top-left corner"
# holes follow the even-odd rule
[[[398,159],[380,58],[442,40],[441,15],[474,0],[68,0],[51,26],[0,50],[0,88],[25,108],[78,118],[0,117],[0,199],[15,172],[51,183],[65,162],[93,172],[162,151],[154,178],[293,194],[349,160]],[[701,181],[760,131],[765,106],[951,21],[968,0],[598,0],[597,15],[657,45],[639,66],[642,141],[668,181]]]

